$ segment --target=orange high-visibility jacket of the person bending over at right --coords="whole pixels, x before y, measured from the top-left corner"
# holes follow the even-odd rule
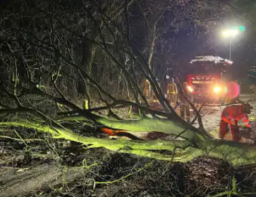
[[[242,105],[227,106],[221,114],[221,119],[230,125],[237,124],[237,121],[242,120],[246,127],[250,128],[248,115],[242,112]]]

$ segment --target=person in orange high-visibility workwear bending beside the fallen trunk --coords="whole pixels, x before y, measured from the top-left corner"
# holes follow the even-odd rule
[[[249,103],[242,103],[236,105],[230,105],[225,108],[221,114],[221,124],[220,130],[218,132],[218,137],[223,139],[227,133],[228,125],[231,128],[232,140],[239,142],[240,133],[239,126],[237,122],[242,120],[246,124],[248,132],[251,132],[250,123],[248,120],[248,115],[252,106]]]

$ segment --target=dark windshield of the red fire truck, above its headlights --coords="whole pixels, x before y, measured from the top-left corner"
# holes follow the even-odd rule
[[[214,62],[193,62],[191,74],[221,74],[221,65]]]

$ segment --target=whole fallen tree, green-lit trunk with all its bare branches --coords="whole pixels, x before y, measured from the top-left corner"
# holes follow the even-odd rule
[[[65,3],[61,7],[51,7],[49,1],[45,1],[45,5],[40,3],[45,10],[50,10],[49,12],[37,6],[38,1],[34,3],[31,7],[20,10],[20,15],[17,17],[4,18],[2,21],[5,27],[3,28],[5,33],[2,34],[5,36],[2,38],[3,44],[1,45],[3,72],[1,72],[0,85],[0,113],[2,114],[0,127],[33,128],[40,132],[49,132],[56,139],[79,142],[87,148],[104,147],[111,151],[159,160],[187,162],[198,156],[207,156],[227,160],[233,166],[255,164],[256,146],[214,139],[204,130],[199,113],[200,128],[195,128],[180,118],[163,96],[150,65],[157,38],[162,35],[161,31],[156,31],[157,24],[163,23],[161,21],[163,13],[170,12],[177,6],[175,3],[167,8],[163,3],[157,9],[159,15],[158,19],[152,23],[154,33],[148,58],[145,58],[145,55],[134,44],[129,32],[128,9],[132,1],[115,2],[113,6],[116,10],[112,10],[113,12],[108,6],[102,10],[99,6],[100,2],[97,1],[91,1],[89,4],[81,1],[80,4],[74,4],[72,8],[76,12],[85,11],[85,17],[90,22],[88,24],[91,25],[93,33],[87,34],[83,33],[88,31],[86,20],[79,18],[81,21],[78,22],[74,10],[69,10]],[[37,10],[36,14],[35,10]],[[67,10],[71,17],[63,15],[63,12]],[[186,11],[191,12],[191,10]],[[123,20],[118,18],[120,12],[123,13]],[[13,14],[12,6],[6,9],[3,15],[10,15],[10,13]],[[26,19],[29,19],[31,24],[26,24]],[[8,26],[5,20],[15,25]],[[33,22],[37,22],[40,26],[34,26]],[[120,24],[125,29],[120,28]],[[30,31],[27,31],[28,28]],[[82,47],[79,43],[85,46]],[[79,53],[80,50],[83,52]],[[95,57],[95,50],[99,53],[99,57]],[[88,55],[89,52],[90,55]],[[125,81],[126,90],[132,92],[132,98],[116,99],[117,95],[113,96],[100,84],[102,77],[93,76],[93,62],[106,60],[101,59],[101,56],[108,59],[113,69],[113,76],[118,75]],[[85,60],[85,58],[88,59]],[[96,58],[98,59],[95,60]],[[136,65],[136,70],[134,67],[131,68],[132,64]],[[137,78],[136,72],[140,73],[141,79],[147,78],[150,82],[164,112],[150,109],[140,89],[141,80]],[[108,75],[109,81],[111,81],[111,75]],[[82,108],[81,103],[76,103],[74,94],[77,94],[76,89],[79,89],[76,86],[77,80],[79,83],[84,83],[82,89],[90,86],[90,91],[93,89],[97,94],[97,99],[105,105],[92,108],[90,92],[85,92],[86,96],[83,97],[83,101],[89,102],[87,107]],[[113,112],[117,105],[138,108],[141,118],[120,120],[120,117]],[[60,106],[63,112],[60,112]],[[109,116],[113,118],[108,119],[96,113],[101,110],[107,110]],[[140,142],[86,137],[72,130],[72,126],[76,124],[81,126],[78,123],[87,124],[89,128],[107,127],[127,132],[164,132],[173,135],[173,140],[158,139],[152,142]],[[170,153],[156,152],[162,150]]]

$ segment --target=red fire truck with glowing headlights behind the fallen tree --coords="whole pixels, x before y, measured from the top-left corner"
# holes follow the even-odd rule
[[[188,91],[193,103],[207,101],[221,103],[227,92],[228,72],[232,61],[218,56],[196,56],[190,61],[187,75]]]

